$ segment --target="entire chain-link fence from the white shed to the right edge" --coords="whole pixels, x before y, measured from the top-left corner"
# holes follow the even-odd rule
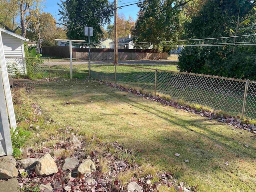
[[[110,56],[110,55],[109,55]],[[9,74],[30,78],[70,78],[68,58],[6,58]],[[157,68],[157,66],[155,66]],[[72,59],[73,78],[88,77],[88,60]],[[256,119],[256,82],[92,61],[91,76],[125,84],[172,100],[221,110],[230,116]]]

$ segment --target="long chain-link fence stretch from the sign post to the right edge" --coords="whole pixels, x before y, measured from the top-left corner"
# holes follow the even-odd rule
[[[115,82],[114,64],[93,66],[91,74],[99,80]],[[253,81],[246,83],[246,80],[240,79],[118,64],[116,84],[128,85],[192,106],[222,111],[230,116],[256,119],[256,82]]]

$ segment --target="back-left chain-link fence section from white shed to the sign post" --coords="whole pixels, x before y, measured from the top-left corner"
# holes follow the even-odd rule
[[[8,73],[12,76],[30,78],[70,78],[69,58],[6,58]],[[73,78],[88,76],[88,61],[72,59]]]

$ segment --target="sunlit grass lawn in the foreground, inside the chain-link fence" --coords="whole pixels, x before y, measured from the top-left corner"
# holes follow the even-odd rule
[[[79,128],[81,135],[97,133],[103,140],[143,150],[143,162],[171,172],[178,182],[198,185],[198,192],[256,190],[256,136],[250,132],[93,80],[33,86],[30,99],[60,126]],[[64,105],[66,102],[70,104]],[[42,144],[54,134],[53,128],[42,127],[30,144]],[[49,144],[54,142],[53,138]]]

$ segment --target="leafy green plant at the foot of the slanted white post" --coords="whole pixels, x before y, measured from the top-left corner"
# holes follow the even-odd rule
[[[11,130],[11,138],[12,138],[12,148],[13,148],[13,156],[16,159],[19,159],[22,152],[20,148],[24,146],[28,137],[30,136],[29,131],[24,131],[21,127],[17,127],[15,130]]]

